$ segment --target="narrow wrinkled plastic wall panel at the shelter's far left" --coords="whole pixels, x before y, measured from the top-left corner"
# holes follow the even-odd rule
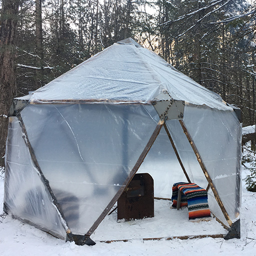
[[[65,230],[24,142],[20,123],[9,118],[5,154],[4,204],[8,213],[60,238]]]

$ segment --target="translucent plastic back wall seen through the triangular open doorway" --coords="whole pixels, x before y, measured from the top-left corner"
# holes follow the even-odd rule
[[[206,188],[208,182],[179,121],[168,120],[166,124],[190,181]],[[155,197],[170,198],[174,183],[188,182],[163,127],[138,172],[153,177]]]

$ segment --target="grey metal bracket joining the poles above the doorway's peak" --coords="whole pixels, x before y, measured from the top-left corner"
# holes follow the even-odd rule
[[[185,101],[173,99],[167,90],[157,95],[151,104],[161,120],[183,119]]]

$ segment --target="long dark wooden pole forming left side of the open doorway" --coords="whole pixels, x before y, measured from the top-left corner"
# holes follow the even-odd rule
[[[161,127],[164,123],[164,120],[159,120],[157,123],[151,137],[149,138],[146,146],[144,147],[143,151],[141,152],[140,156],[138,157],[135,165],[131,169],[130,173],[128,174],[127,178],[124,180],[122,186],[119,188],[117,193],[114,195],[114,197],[111,199],[111,201],[108,203],[108,205],[105,207],[103,212],[100,214],[100,216],[96,219],[96,221],[93,223],[91,228],[87,231],[86,235],[91,235],[92,232],[97,228],[99,223],[103,220],[103,218],[106,216],[108,211],[113,207],[114,203],[118,200],[122,192],[125,190],[125,188],[128,186],[129,182],[137,172],[138,168],[140,167],[141,163],[144,161],[148,151],[150,150],[151,146],[153,145],[153,142],[155,141],[156,137],[158,136]]]

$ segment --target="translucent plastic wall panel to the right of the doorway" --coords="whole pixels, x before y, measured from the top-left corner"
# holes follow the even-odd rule
[[[239,216],[240,205],[239,120],[234,111],[186,105],[184,123],[230,219],[234,221]]]

